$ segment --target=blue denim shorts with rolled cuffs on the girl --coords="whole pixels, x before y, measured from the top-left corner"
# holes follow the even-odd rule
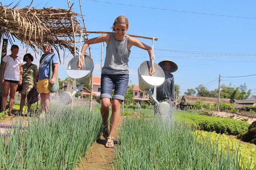
[[[113,99],[124,100],[128,87],[129,74],[101,74],[101,95],[99,98],[110,98],[114,86]]]

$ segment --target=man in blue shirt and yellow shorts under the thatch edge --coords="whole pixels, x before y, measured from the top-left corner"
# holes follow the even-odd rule
[[[47,112],[50,105],[50,90],[49,84],[53,85],[58,72],[59,59],[53,53],[52,46],[45,42],[43,44],[44,53],[40,58],[38,68],[38,93],[41,96],[41,112]],[[53,64],[53,76],[49,80],[50,60]]]

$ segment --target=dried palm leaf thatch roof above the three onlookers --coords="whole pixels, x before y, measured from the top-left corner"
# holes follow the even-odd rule
[[[36,51],[35,46],[42,50],[42,43],[48,41],[56,49],[59,58],[58,46],[60,49],[67,48],[73,54],[76,42],[73,27],[75,33],[79,33],[82,28],[76,18],[78,14],[72,12],[71,8],[35,9],[27,6],[14,9],[16,5],[14,8],[7,7],[0,6],[0,36],[7,37],[11,43],[15,37],[34,51]]]

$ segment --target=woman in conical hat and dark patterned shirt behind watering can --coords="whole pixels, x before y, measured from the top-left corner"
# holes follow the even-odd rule
[[[157,100],[159,102],[168,102],[170,106],[175,105],[176,101],[174,96],[174,77],[171,72],[177,71],[178,66],[171,60],[163,60],[159,62],[158,65],[163,69],[163,72],[165,73],[165,81],[161,86],[157,87]]]

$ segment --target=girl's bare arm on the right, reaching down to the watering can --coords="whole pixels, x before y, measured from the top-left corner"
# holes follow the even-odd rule
[[[129,37],[129,44],[128,44],[128,48],[131,48],[132,46],[136,46],[139,47],[143,50],[146,50],[148,52],[148,56],[149,56],[149,60],[150,60],[150,68],[148,70],[148,73],[151,75],[152,73],[152,48],[142,42],[140,42],[139,40],[133,38],[133,37]],[[155,73],[155,70],[153,70]]]

